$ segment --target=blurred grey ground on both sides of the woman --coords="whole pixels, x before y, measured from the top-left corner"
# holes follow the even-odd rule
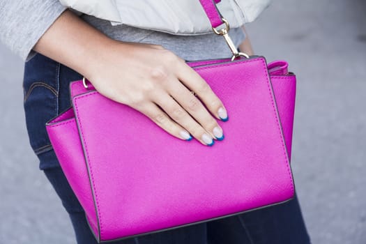
[[[274,0],[254,51],[297,74],[292,167],[313,243],[366,243],[366,3]],[[0,45],[0,243],[75,243],[31,151],[22,61]]]

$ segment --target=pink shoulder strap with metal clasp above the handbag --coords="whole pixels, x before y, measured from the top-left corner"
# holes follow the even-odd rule
[[[227,22],[227,20],[222,17],[220,11],[218,10],[218,7],[216,6],[216,3],[219,3],[220,1],[221,0],[199,0],[199,3],[201,3],[201,6],[204,8],[204,11],[208,17],[208,20],[210,20],[211,22],[213,32],[225,38],[227,45],[233,53],[231,61],[234,61],[234,59],[240,56],[245,56],[247,59],[249,59],[249,56],[247,54],[243,52],[238,52],[238,49],[236,49],[236,46],[230,38],[229,22]],[[225,24],[225,27],[223,29],[217,30],[216,28],[222,24]]]

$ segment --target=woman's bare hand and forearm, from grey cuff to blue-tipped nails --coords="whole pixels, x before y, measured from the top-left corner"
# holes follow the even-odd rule
[[[34,49],[73,68],[102,95],[137,109],[175,137],[189,140],[192,135],[209,146],[224,138],[215,119],[225,121],[227,112],[218,96],[183,59],[160,45],[112,40],[67,10]]]

